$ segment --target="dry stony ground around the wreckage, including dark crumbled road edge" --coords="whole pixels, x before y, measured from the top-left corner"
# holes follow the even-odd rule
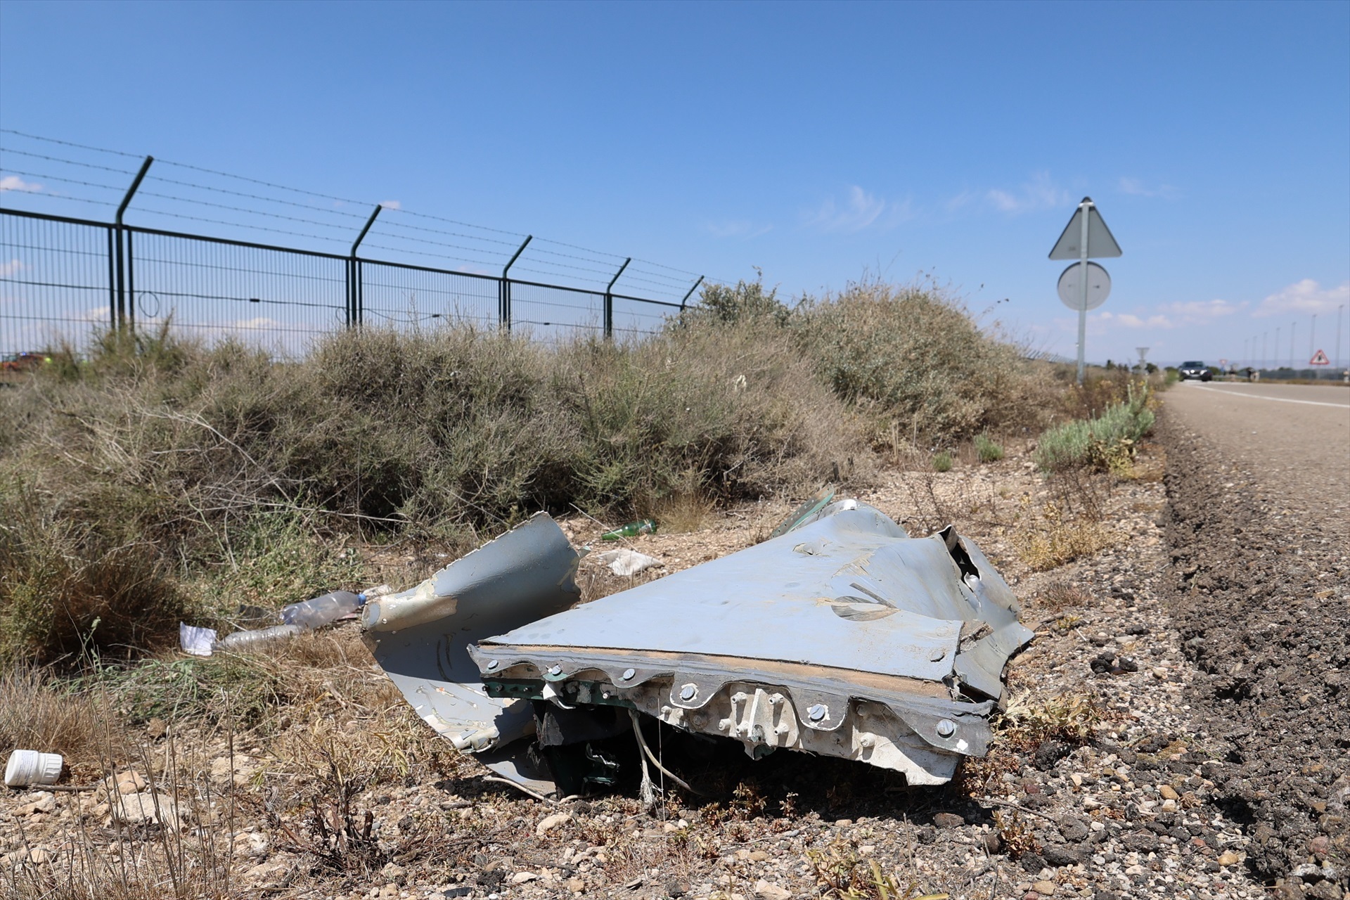
[[[136,753],[74,773],[108,779],[103,789],[0,796],[0,885],[30,897],[1342,897],[1346,532],[1293,525],[1293,501],[1203,428],[1165,409],[1126,479],[1046,482],[1027,444],[853,491],[911,536],[956,522],[1035,630],[1008,668],[992,753],[950,785],[778,753],[667,758],[706,796],[671,787],[655,808],[630,787],[528,797],[429,752],[397,695],[360,694],[381,676],[347,623],[277,650],[278,664],[308,653],[327,687],[266,727],[128,726]],[[760,540],[790,506],[636,538],[663,561],[637,579]],[[564,526],[578,542],[601,530]],[[594,564],[582,576],[590,596],[633,583]],[[128,810],[130,796],[151,803]],[[155,812],[166,800],[170,815]],[[78,889],[94,881],[101,893]]]

